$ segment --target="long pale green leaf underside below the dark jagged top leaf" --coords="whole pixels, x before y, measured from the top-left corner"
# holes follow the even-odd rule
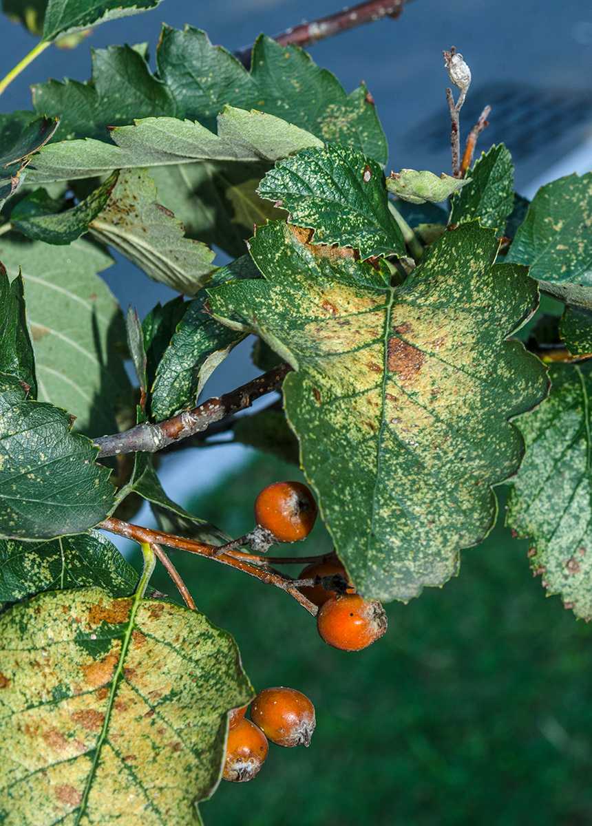
[[[29,183],[92,178],[113,169],[189,164],[196,160],[275,161],[320,140],[263,112],[232,107],[218,116],[218,134],[199,123],[173,117],[146,117],[135,126],[111,130],[116,146],[100,140],[50,144],[37,154]]]

